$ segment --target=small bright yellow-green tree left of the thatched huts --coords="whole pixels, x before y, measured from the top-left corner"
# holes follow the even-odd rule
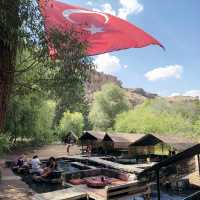
[[[78,112],[64,112],[64,115],[59,124],[60,136],[66,135],[70,131],[79,136],[84,127],[83,115]]]

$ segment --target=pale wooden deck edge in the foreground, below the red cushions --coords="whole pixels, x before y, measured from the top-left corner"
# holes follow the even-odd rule
[[[103,189],[89,188],[87,185],[73,186],[43,194],[35,194],[32,200],[79,200],[90,197],[95,200],[114,200],[130,195],[145,195],[150,193],[148,186],[138,185],[137,182],[118,181]]]

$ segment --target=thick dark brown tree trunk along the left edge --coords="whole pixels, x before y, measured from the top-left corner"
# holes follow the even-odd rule
[[[0,133],[4,129],[8,100],[14,81],[20,1],[0,1]]]

